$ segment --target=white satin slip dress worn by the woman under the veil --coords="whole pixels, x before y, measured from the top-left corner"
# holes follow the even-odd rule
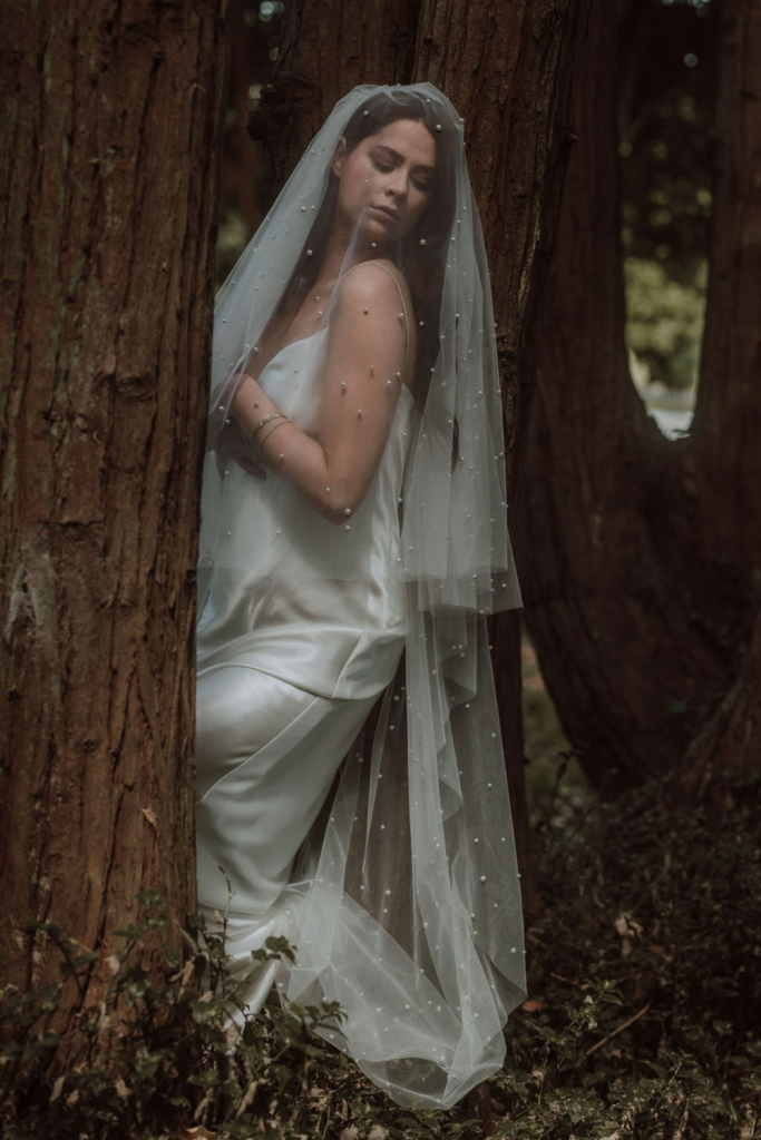
[[[259,377],[310,433],[326,340],[322,329],[286,345]],[[230,463],[225,479],[225,547],[197,625],[196,841],[199,905],[210,922],[227,913],[241,969],[285,931],[296,853],[404,648],[392,570],[413,408],[402,384],[380,465],[347,524],[325,520],[273,472],[256,479]],[[276,966],[256,975],[251,1012]]]

